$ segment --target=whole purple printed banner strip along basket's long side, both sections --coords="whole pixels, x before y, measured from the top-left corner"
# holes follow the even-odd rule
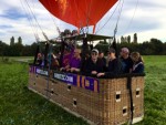
[[[44,69],[40,69],[38,66],[30,66],[29,69],[30,73],[37,73],[40,75],[49,76],[49,71]],[[84,75],[79,75],[79,74],[72,74],[72,73],[60,73],[60,72],[54,72],[53,73],[53,79],[62,81],[66,84],[72,84],[77,87],[83,87],[93,92],[100,92],[98,87],[98,80],[95,77],[89,77]]]

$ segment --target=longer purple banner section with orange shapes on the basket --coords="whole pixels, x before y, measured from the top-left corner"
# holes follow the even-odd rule
[[[89,77],[84,75],[77,75],[72,73],[53,73],[53,79],[62,81],[68,84],[75,85],[77,87],[83,87],[90,91],[98,92],[98,80],[94,77]]]

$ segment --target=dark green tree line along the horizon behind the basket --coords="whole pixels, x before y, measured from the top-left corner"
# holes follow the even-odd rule
[[[106,53],[106,50],[111,44],[112,42],[110,43],[107,41],[100,41],[94,48]],[[33,42],[30,45],[23,45],[21,37],[18,38],[17,42],[12,37],[10,39],[10,44],[0,41],[0,56],[33,56],[37,51],[37,46],[38,43],[35,42]],[[131,52],[138,51],[142,55],[165,55],[166,54],[166,42],[162,42],[160,40],[157,39],[151,39],[149,41],[138,43],[136,33],[134,34],[133,41],[131,41],[129,35],[122,37],[121,41],[116,40],[116,46],[118,52],[121,48],[126,46],[131,50]],[[55,50],[60,50],[60,49],[55,49]]]

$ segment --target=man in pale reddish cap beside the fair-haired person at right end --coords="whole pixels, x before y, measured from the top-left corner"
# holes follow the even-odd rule
[[[133,66],[133,61],[129,58],[129,50],[127,48],[121,49],[121,61],[122,61],[122,65],[123,65],[123,73],[131,73],[132,66]]]

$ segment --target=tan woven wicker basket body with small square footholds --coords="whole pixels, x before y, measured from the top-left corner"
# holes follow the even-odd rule
[[[54,79],[53,74],[49,74],[49,76],[43,76],[39,73],[30,72],[29,87],[69,112],[82,116],[91,124],[116,125],[129,121],[131,100],[127,77],[97,80],[76,75],[76,83],[72,84]],[[91,84],[89,79],[94,79],[93,91],[86,87],[86,85]],[[82,81],[81,84],[79,80]],[[96,81],[97,83],[95,83]],[[133,76],[131,86],[133,95],[132,106],[134,108],[133,123],[136,123],[144,116],[144,76]]]

